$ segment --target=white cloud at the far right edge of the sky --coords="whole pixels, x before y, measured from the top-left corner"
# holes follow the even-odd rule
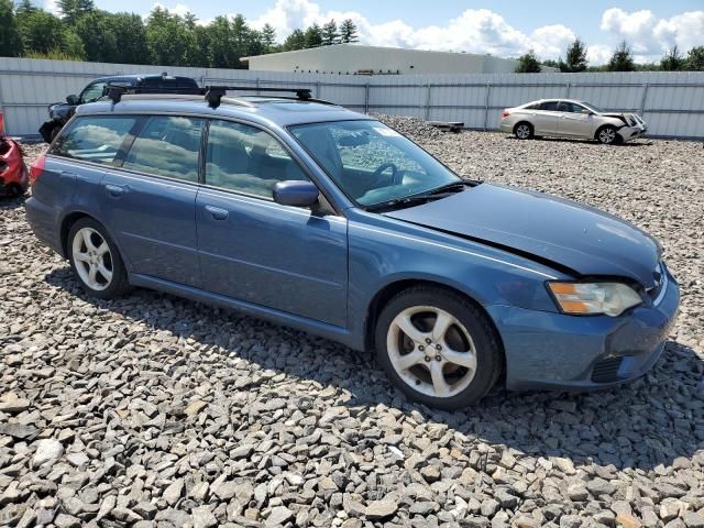
[[[650,10],[626,12],[612,8],[602,14],[600,28],[610,33],[614,40],[626,40],[637,61],[659,61],[674,45],[681,52],[701,45],[704,11],[658,19]]]

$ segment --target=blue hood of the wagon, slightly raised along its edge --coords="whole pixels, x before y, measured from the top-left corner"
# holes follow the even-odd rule
[[[482,184],[384,213],[477,240],[580,276],[628,277],[650,288],[660,246],[612,215],[554,196]]]

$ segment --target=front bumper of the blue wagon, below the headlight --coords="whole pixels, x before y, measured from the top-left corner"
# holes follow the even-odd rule
[[[584,391],[636,380],[658,361],[680,302],[668,284],[657,305],[620,317],[573,317],[488,307],[506,352],[506,387]]]

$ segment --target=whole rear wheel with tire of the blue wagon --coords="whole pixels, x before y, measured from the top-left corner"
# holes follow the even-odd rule
[[[72,272],[88,295],[116,299],[129,290],[122,257],[99,222],[91,218],[77,220],[68,232],[66,249]]]

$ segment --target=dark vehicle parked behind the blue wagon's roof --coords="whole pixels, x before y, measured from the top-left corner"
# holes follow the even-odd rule
[[[50,120],[40,128],[40,134],[42,134],[44,141],[51,143],[64,124],[74,117],[76,107],[100,99],[105,95],[105,89],[108,85],[123,86],[136,94],[200,94],[200,88],[195,79],[190,77],[173,77],[165,73],[161,75],[114,75],[100,77],[86,86],[79,96],[70,95],[66,98],[66,102],[50,105]]]

